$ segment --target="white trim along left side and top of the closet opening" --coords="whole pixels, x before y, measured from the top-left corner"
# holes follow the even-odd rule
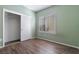
[[[13,14],[20,15],[20,16],[23,15],[21,13],[3,8],[3,47],[5,47],[5,39],[4,39],[5,38],[5,32],[4,32],[5,31],[5,12],[13,13]],[[21,18],[20,18],[20,21],[21,21]],[[20,35],[21,35],[21,33],[20,33]],[[20,36],[20,38],[21,38],[21,36]]]

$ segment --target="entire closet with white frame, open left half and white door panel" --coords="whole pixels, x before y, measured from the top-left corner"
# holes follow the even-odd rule
[[[32,38],[32,18],[3,9],[3,47],[6,43],[20,42]]]

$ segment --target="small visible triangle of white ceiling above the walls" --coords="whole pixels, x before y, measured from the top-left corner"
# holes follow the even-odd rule
[[[51,5],[25,5],[25,7],[33,10],[33,11],[39,11],[39,10],[42,10],[42,9],[45,9],[45,8],[48,8],[50,7]]]

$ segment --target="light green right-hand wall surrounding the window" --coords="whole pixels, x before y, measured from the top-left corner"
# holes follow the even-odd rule
[[[56,13],[57,16],[56,35],[38,32],[38,17],[49,13]],[[79,6],[52,6],[48,9],[37,12],[36,16],[37,37],[79,47]]]

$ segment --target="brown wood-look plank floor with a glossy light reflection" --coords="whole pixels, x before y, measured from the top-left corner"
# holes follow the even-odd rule
[[[79,54],[79,50],[42,39],[29,39],[1,48],[0,54]]]

